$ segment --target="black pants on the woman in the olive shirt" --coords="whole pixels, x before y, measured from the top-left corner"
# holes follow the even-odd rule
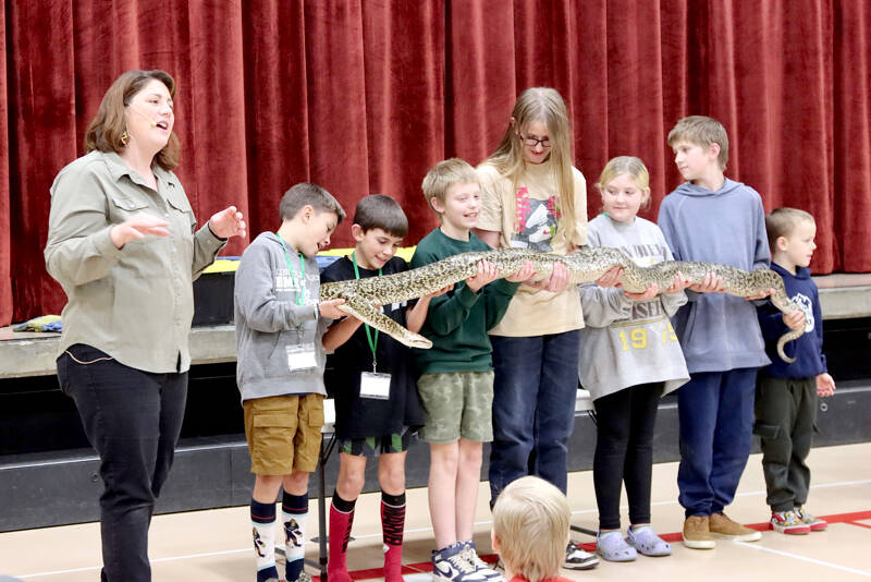
[[[102,580],[150,581],[148,526],[181,433],[187,373],[143,372],[75,344],[58,359],[58,378],[100,456]]]

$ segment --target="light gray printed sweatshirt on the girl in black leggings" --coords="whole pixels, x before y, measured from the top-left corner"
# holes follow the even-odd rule
[[[588,226],[587,242],[619,248],[641,267],[672,258],[659,227],[640,217],[626,225],[600,215]],[[586,327],[580,330],[578,376],[593,400],[657,381],[665,383],[667,393],[689,380],[668,320],[686,302],[683,292],[631,301],[619,288],[580,287]]]

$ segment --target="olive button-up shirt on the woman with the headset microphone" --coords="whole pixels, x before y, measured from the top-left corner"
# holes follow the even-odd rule
[[[68,298],[59,355],[86,343],[145,372],[191,367],[193,281],[225,242],[208,226],[195,230],[174,173],[157,166],[154,172],[157,191],[118,154],[91,151],[54,179],[45,257]],[[115,248],[110,228],[139,213],[165,220],[169,237]]]

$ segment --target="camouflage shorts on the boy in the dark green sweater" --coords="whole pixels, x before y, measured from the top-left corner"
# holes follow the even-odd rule
[[[493,440],[492,372],[424,374],[417,390],[426,417],[420,438],[427,442]]]

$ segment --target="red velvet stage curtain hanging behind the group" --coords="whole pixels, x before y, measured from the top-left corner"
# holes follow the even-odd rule
[[[766,209],[815,216],[815,272],[871,271],[869,1],[0,5],[0,325],[63,306],[42,263],[48,191],[106,88],[137,66],[179,83],[177,173],[199,219],[236,204],[252,235],[275,229],[282,193],[310,180],[348,214],[368,193],[395,196],[416,243],[436,225],[427,168],[481,161],[517,93],[549,85],[569,108],[590,216],[602,166],[633,154],[651,171],[655,218],[679,182],[668,130],[710,114],[729,133],[731,178]],[[333,244],[351,244],[348,223]]]

